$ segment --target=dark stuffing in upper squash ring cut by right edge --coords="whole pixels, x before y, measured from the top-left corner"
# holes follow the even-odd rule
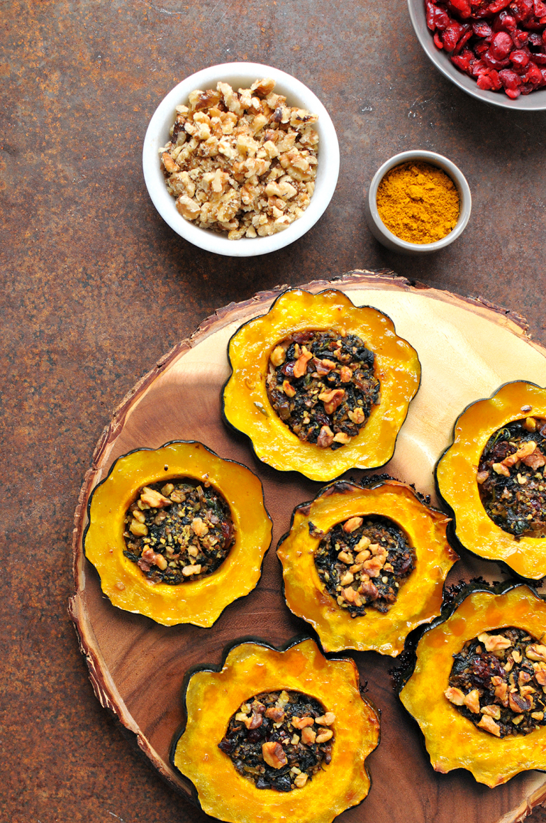
[[[514,421],[488,439],[479,460],[479,496],[488,517],[516,537],[546,537],[546,421]]]

